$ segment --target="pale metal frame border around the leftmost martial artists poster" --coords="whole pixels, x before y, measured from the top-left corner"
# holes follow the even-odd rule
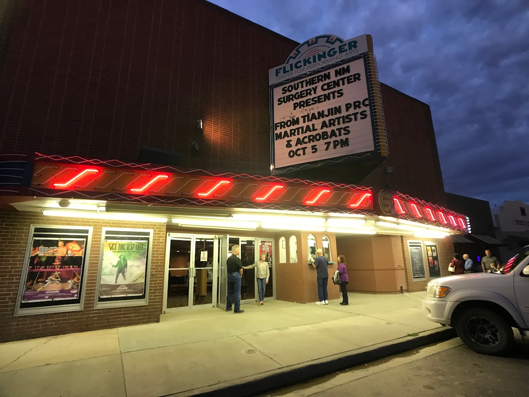
[[[44,228],[44,229],[71,229],[71,228],[77,228],[77,229],[87,229],[88,230],[88,236],[87,241],[85,245],[85,261],[83,263],[83,279],[81,279],[81,296],[79,303],[70,303],[70,304],[63,304],[63,305],[53,305],[53,306],[43,306],[41,308],[21,308],[20,303],[22,299],[22,294],[24,292],[24,285],[26,280],[26,275],[28,274],[28,266],[29,266],[29,255],[31,254],[31,244],[33,242],[33,234],[35,232],[35,229],[37,228]],[[35,314],[51,314],[51,313],[63,313],[63,312],[75,312],[75,311],[82,311],[84,308],[85,303],[85,292],[86,292],[86,283],[88,278],[88,269],[89,269],[89,263],[90,263],[90,249],[92,249],[92,235],[93,235],[94,227],[93,226],[83,226],[83,225],[56,225],[56,224],[31,224],[30,225],[30,231],[28,234],[28,241],[26,243],[26,250],[24,254],[24,264],[22,265],[22,273],[20,275],[19,280],[19,291],[16,295],[16,302],[15,302],[15,312],[13,313],[13,317],[20,317],[23,315],[35,315]]]

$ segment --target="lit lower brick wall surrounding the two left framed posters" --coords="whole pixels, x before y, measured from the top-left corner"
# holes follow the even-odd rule
[[[0,342],[160,321],[165,268],[165,224],[51,218],[38,213],[3,210],[0,210],[0,224]],[[82,311],[13,317],[31,224],[83,225],[94,228]],[[94,309],[103,227],[154,230],[147,306]]]

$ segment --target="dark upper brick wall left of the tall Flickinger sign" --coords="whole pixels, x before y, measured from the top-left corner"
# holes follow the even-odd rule
[[[25,0],[14,26],[2,150],[269,172],[268,69],[295,41],[203,0]]]

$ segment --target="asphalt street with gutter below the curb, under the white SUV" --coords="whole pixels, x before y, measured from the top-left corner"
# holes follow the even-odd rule
[[[516,347],[506,357],[479,355],[454,338],[264,395],[525,396],[529,341],[515,335]]]

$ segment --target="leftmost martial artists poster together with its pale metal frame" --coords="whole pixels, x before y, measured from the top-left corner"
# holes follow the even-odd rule
[[[14,315],[83,309],[92,230],[31,225]]]

